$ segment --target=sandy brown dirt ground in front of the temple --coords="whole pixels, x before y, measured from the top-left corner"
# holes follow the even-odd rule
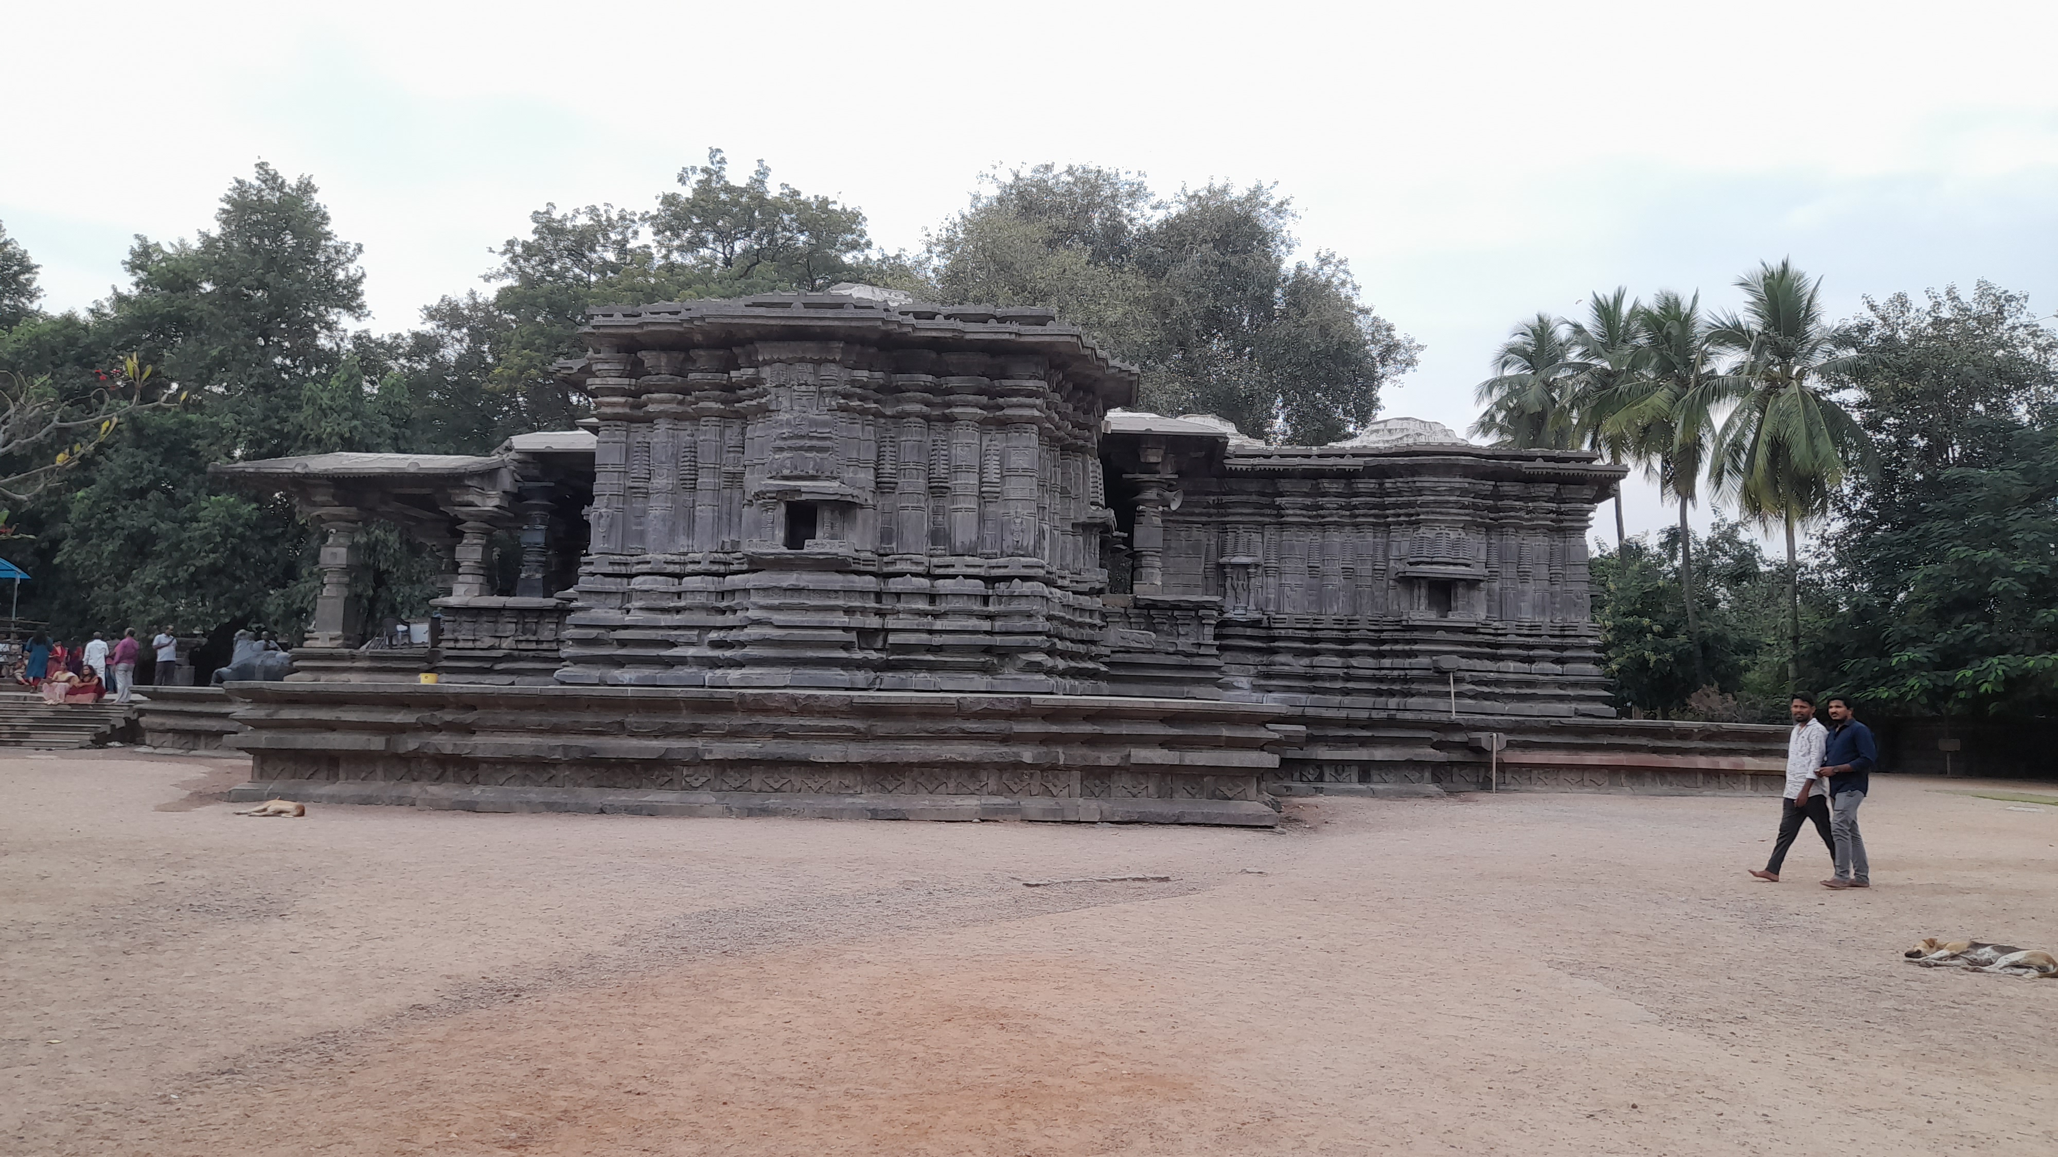
[[[2058,1151],[2058,982],[1900,957],[2058,949],[2058,807],[1963,780],[1875,778],[1830,891],[1745,875],[1766,799],[243,819],[245,770],[0,753],[0,1151]]]

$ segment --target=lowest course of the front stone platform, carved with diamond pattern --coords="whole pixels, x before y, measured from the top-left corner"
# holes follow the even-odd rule
[[[675,815],[743,819],[930,819],[1035,823],[1204,823],[1276,828],[1264,803],[1220,799],[1010,799],[1000,795],[807,795],[749,791],[622,791],[593,786],[471,786],[370,780],[270,780],[230,788],[233,803],[401,805],[432,811],[578,811],[599,815]]]

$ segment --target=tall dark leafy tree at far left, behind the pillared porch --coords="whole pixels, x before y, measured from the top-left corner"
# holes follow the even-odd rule
[[[123,422],[72,486],[31,509],[54,622],[298,622],[307,531],[290,504],[222,492],[206,471],[307,445],[303,395],[342,366],[346,323],[364,313],[356,261],[313,181],[257,165],[230,185],[214,229],[138,239],[128,288],[86,315],[31,323],[33,340],[10,334],[10,352],[54,381],[126,350],[196,399]]]

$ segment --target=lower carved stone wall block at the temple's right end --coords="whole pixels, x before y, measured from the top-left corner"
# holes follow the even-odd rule
[[[1229,698],[1613,714],[1585,539],[1618,467],[1469,445],[1167,447],[1136,525],[1159,539],[1155,591],[1220,607]]]

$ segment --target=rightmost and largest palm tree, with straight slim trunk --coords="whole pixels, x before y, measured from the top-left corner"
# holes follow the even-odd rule
[[[1786,679],[1801,679],[1801,562],[1795,525],[1830,509],[1852,459],[1869,459],[1858,422],[1830,397],[1823,379],[1848,373],[1856,356],[1838,356],[1821,309],[1821,278],[1790,259],[1760,264],[1737,278],[1743,313],[1714,321],[1712,340],[1737,364],[1723,389],[1737,406],[1714,436],[1708,482],[1735,494],[1737,506],[1770,525],[1786,525]]]

